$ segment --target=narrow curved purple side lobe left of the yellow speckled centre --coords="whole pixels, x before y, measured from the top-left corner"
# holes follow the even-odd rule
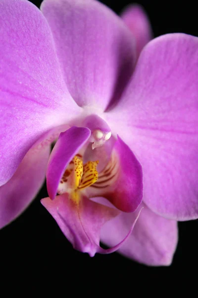
[[[61,133],[51,151],[47,169],[47,188],[49,197],[55,198],[60,179],[76,153],[89,139],[91,132],[85,127],[71,127]]]

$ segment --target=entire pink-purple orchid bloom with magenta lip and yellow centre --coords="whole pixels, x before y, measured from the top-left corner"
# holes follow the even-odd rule
[[[75,249],[171,263],[198,218],[198,38],[151,37],[137,5],[0,0],[1,227],[46,175]]]

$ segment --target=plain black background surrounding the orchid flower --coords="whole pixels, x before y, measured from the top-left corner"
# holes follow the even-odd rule
[[[38,7],[41,1],[34,1]],[[129,1],[102,1],[116,13],[129,4]],[[136,1],[144,6],[152,25],[154,37],[171,32],[184,32],[198,36],[197,6],[194,1]],[[195,165],[197,166],[197,165]],[[45,296],[52,288],[61,289],[65,296],[112,296],[122,290],[121,296],[141,294],[161,295],[171,291],[170,281],[175,283],[179,295],[183,287],[194,288],[193,280],[198,267],[198,221],[179,223],[179,243],[174,260],[169,267],[147,267],[128,260],[117,253],[90,258],[87,254],[75,251],[61,233],[59,227],[41,205],[46,197],[45,186],[31,206],[12,224],[0,233],[0,268],[10,291],[26,291],[32,297],[33,289],[37,296]],[[159,287],[158,281],[162,285]],[[184,280],[184,283],[182,281]],[[2,280],[1,280],[2,281]],[[176,285],[176,281],[180,284]],[[148,286],[149,285],[149,286]],[[27,290],[26,290],[27,289]],[[152,292],[150,292],[150,290]],[[160,292],[159,292],[160,290]],[[28,291],[28,292],[27,292]],[[173,294],[173,293],[172,293]],[[51,294],[52,295],[52,294]],[[56,293],[55,297],[59,297]],[[191,297],[191,295],[188,297]]]

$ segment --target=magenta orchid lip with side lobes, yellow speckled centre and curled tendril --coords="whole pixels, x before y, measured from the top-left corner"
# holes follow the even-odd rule
[[[100,124],[106,125],[103,120]],[[125,242],[133,227],[119,244],[103,250],[99,246],[101,226],[122,211],[135,211],[142,201],[142,168],[135,155],[119,136],[116,140],[104,127],[104,133],[95,132],[97,129],[94,123],[60,134],[47,170],[51,196],[42,200],[73,247],[90,256],[111,253]],[[93,150],[92,134],[97,139],[110,138]],[[93,202],[94,197],[106,198],[114,208]]]

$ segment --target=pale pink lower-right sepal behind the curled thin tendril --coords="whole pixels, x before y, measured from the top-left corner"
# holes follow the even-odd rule
[[[140,263],[167,266],[172,262],[178,241],[177,222],[154,214],[144,204],[144,209],[128,240],[118,252]],[[137,217],[135,213],[121,213],[101,229],[101,241],[113,246],[126,235]]]

